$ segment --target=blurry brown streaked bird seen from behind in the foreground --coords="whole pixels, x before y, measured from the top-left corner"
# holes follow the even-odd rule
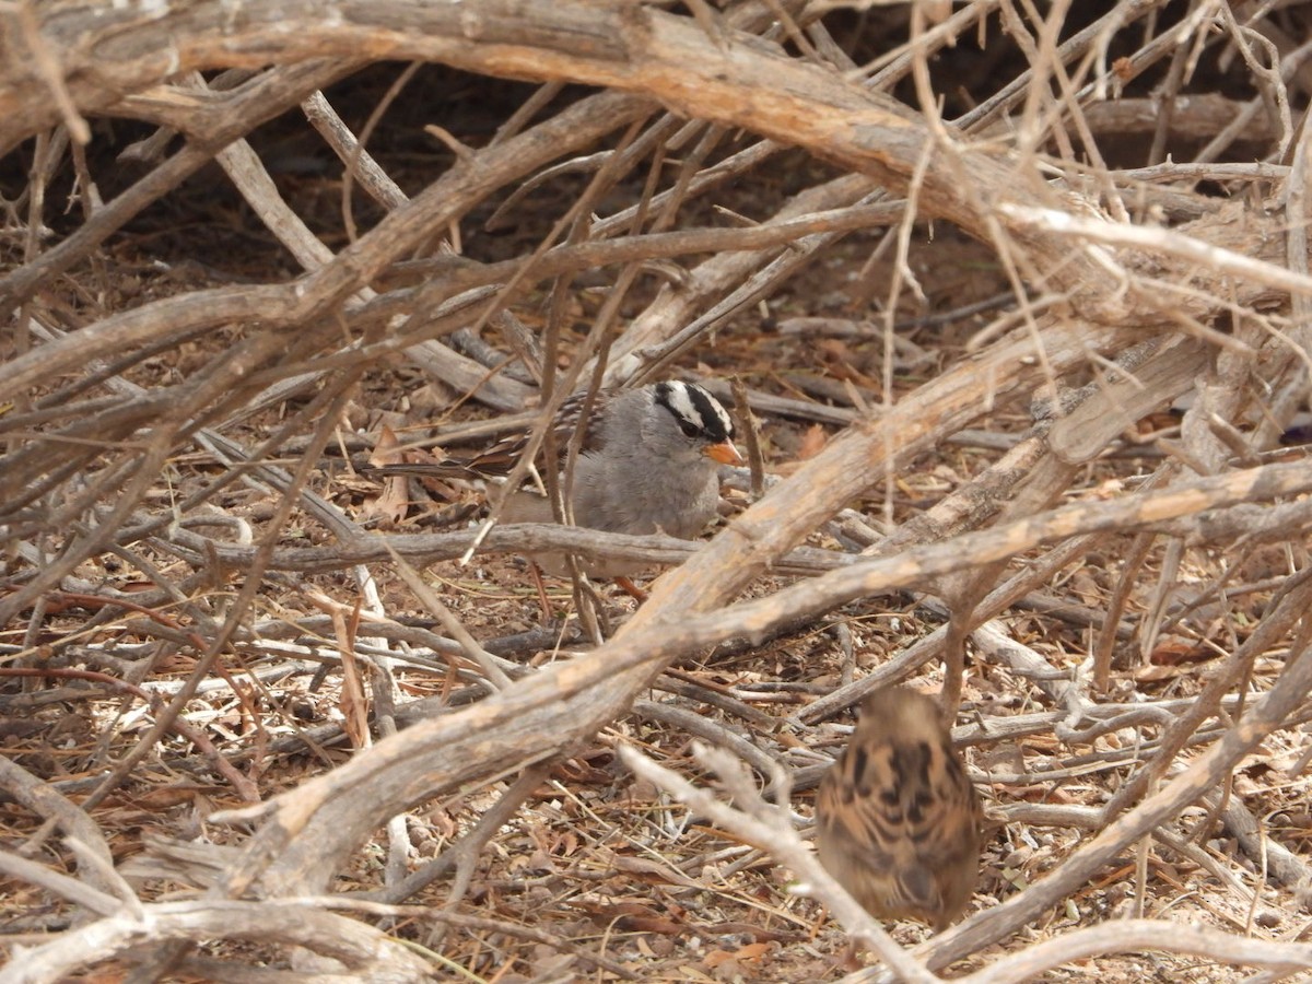
[[[975,892],[983,820],[938,705],[888,687],[820,781],[816,853],[871,916],[942,932]]]

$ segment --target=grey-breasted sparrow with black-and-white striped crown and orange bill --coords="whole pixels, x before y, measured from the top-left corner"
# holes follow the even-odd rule
[[[579,425],[583,395],[562,405],[554,421],[555,445],[564,455]],[[505,475],[526,446],[526,436],[504,441],[466,459],[441,464],[392,464],[388,475]],[[652,383],[634,390],[598,394],[575,461],[572,482],[560,475],[569,512],[577,526],[611,533],[664,531],[691,539],[715,518],[719,466],[740,463],[733,446],[733,421],[706,390],[684,382]],[[538,467],[544,467],[538,462]],[[555,463],[559,470],[563,459]],[[501,522],[554,522],[551,501],[534,488],[509,492]],[[563,558],[534,555],[551,573],[565,573]],[[622,562],[588,563],[600,576],[635,569]]]

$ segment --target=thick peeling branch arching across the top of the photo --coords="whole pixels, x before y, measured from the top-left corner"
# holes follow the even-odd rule
[[[687,115],[806,146],[891,189],[905,189],[928,157],[937,167],[925,172],[920,189],[922,214],[950,219],[981,239],[992,235],[996,216],[988,206],[1013,198],[1057,203],[1040,184],[1018,188],[998,155],[935,146],[929,129],[895,100],[749,35],[711,39],[687,18],[642,5],[488,0],[472,7],[447,0],[399,9],[333,5],[327,17],[328,8],[316,3],[251,0],[234,9],[192,0],[169,5],[159,18],[130,10],[94,20],[62,13],[43,20],[42,41],[56,54],[73,101],[87,109],[105,109],[110,87],[139,92],[165,71],[345,58],[367,38],[375,58],[642,92]],[[12,42],[17,35],[10,30]],[[178,46],[182,37],[188,43]],[[54,122],[42,92],[41,79],[18,63],[0,72],[0,150]],[[963,174],[970,174],[971,195],[962,194]],[[1086,316],[1127,314],[1106,269],[1051,236],[1018,226],[1009,231],[1030,253],[1038,278],[1077,293]]]

